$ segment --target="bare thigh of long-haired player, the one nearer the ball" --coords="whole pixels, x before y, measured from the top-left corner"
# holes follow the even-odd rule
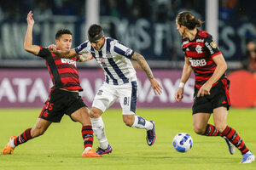
[[[193,115],[193,127],[195,133],[204,133],[211,114],[196,113]]]

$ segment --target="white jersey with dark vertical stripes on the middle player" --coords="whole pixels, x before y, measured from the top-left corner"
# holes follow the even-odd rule
[[[108,84],[120,85],[137,80],[136,71],[130,60],[134,51],[118,40],[105,37],[100,51],[92,48],[87,40],[75,48],[75,51],[77,54],[91,54],[102,66],[105,82]]]

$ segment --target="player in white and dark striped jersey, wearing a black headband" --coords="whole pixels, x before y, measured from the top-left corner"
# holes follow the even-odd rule
[[[112,147],[108,144],[102,113],[113,102],[119,99],[122,107],[123,121],[129,127],[144,128],[147,130],[148,145],[154,144],[156,138],[153,121],[147,121],[142,116],[135,116],[137,105],[137,76],[131,65],[131,60],[143,68],[148,76],[154,94],[161,94],[162,87],[154,78],[143,55],[138,54],[131,48],[125,47],[122,42],[111,37],[105,37],[102,26],[92,25],[88,30],[89,40],[79,47],[70,50],[56,50],[55,45],[50,45],[49,50],[61,58],[71,58],[78,54],[87,54],[89,59],[96,59],[105,74],[105,82],[98,90],[90,111],[90,118],[94,133],[100,147],[96,152],[100,155],[108,154]]]

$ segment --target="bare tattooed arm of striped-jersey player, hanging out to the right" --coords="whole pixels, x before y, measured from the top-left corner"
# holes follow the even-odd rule
[[[154,78],[153,73],[150,69],[150,67],[148,66],[148,63],[146,61],[146,59],[143,57],[143,55],[138,54],[137,52],[135,52],[131,59],[136,60],[137,63],[142,67],[143,71],[145,71],[148,80],[151,82],[151,86],[154,90],[154,94],[161,94],[162,93],[162,87],[160,86],[160,83],[157,82],[157,80]]]

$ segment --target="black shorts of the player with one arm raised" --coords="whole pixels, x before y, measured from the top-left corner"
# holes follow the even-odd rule
[[[39,118],[49,122],[61,122],[64,114],[70,116],[74,111],[87,107],[77,92],[69,92],[61,89],[49,91],[49,99],[45,102]],[[72,119],[73,120],[73,119]]]

